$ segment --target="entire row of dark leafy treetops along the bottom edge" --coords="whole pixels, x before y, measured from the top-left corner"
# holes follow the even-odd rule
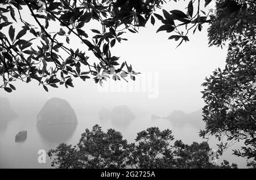
[[[120,132],[94,125],[82,133],[76,146],[60,144],[48,156],[56,168],[237,168],[228,161],[221,165],[209,162],[207,142],[185,145],[181,140],[174,145],[169,129],[157,127],[139,132],[136,143],[127,144]]]

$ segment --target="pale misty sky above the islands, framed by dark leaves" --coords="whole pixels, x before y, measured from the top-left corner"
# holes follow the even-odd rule
[[[164,9],[185,11],[186,5],[187,2],[183,1],[172,2],[165,5]],[[211,6],[213,7],[213,5],[209,7]],[[158,13],[162,14],[161,11]],[[24,19],[28,17],[26,16]],[[19,23],[19,25],[21,24]],[[85,28],[94,28],[88,25]],[[17,24],[14,23],[13,26],[17,27]],[[158,32],[156,34],[156,30],[160,26],[162,24],[158,20],[154,27],[148,22],[145,28],[139,30],[139,34],[131,32],[123,34],[122,37],[128,41],[122,41],[121,44],[116,43],[112,48],[112,55],[120,57],[121,61],[127,61],[128,64],[133,65],[136,72],[142,73],[137,77],[137,82],[129,79],[130,85],[137,83],[136,91],[124,92],[123,89],[126,89],[127,83],[122,81],[114,84],[121,89],[121,92],[117,92],[117,87],[114,87],[114,92],[102,92],[93,79],[87,79],[84,82],[77,78],[73,81],[75,88],[65,89],[64,86],[60,86],[59,89],[54,89],[48,87],[48,93],[35,81],[28,84],[17,81],[13,82],[16,91],[9,94],[1,90],[0,96],[9,98],[15,109],[20,108],[26,111],[29,111],[28,107],[42,107],[44,102],[51,97],[66,99],[75,111],[122,104],[136,106],[161,116],[170,114],[172,110],[183,110],[184,112],[199,110],[204,106],[200,93],[203,90],[201,83],[214,69],[224,67],[226,48],[208,47],[206,24],[201,32],[197,31],[195,35],[191,34],[190,41],[183,43],[178,48],[176,48],[179,44],[178,41],[168,40],[168,37],[173,35],[172,33]],[[60,27],[54,25],[52,28],[57,31]],[[3,31],[7,33],[6,28]],[[18,30],[16,30],[17,33]],[[71,44],[74,45],[73,49],[76,49],[77,45],[79,48],[85,47],[76,38],[71,39]],[[85,49],[87,51],[86,47]],[[90,58],[95,59],[94,57]],[[105,85],[111,83],[113,84],[113,80],[109,79]]]

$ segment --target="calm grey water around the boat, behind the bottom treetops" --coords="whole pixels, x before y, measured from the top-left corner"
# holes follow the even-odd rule
[[[8,123],[0,124],[0,168],[51,168],[51,160],[48,157],[46,164],[38,163],[38,150],[45,149],[48,151],[63,141],[75,145],[85,128],[91,129],[94,124],[100,124],[104,130],[114,128],[122,132],[123,137],[129,143],[134,142],[137,132],[153,126],[160,129],[171,129],[175,139],[181,139],[184,143],[191,144],[193,141],[202,141],[197,133],[199,129],[195,127],[188,125],[182,128],[172,127],[168,120],[151,120],[150,116],[134,119],[127,127],[115,127],[111,122],[101,122],[97,114],[80,114],[77,117],[79,124],[71,128],[51,127],[50,129],[43,129],[36,127],[36,116],[20,116]],[[15,143],[15,135],[20,128],[27,130],[27,140]],[[209,144],[213,149],[216,147],[214,140],[210,140]],[[232,150],[228,149],[224,153],[224,159],[229,162],[236,162],[239,168],[246,167],[246,161],[243,158],[230,154],[232,154]]]

